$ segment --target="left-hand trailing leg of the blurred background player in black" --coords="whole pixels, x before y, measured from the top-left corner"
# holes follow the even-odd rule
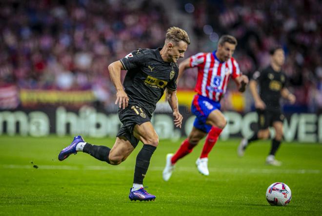
[[[258,114],[258,128],[259,131],[255,132],[252,137],[249,139],[242,138],[241,142],[237,148],[238,156],[242,157],[244,156],[245,150],[248,147],[249,144],[251,144],[253,141],[259,140],[259,139],[267,139],[269,137],[269,113],[266,110],[256,110]]]

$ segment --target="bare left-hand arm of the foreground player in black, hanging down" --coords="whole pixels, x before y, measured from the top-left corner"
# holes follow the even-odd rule
[[[127,107],[129,98],[124,91],[123,85],[121,83],[121,70],[125,70],[121,61],[114,61],[108,65],[108,71],[110,73],[111,80],[116,88],[116,101],[115,104],[119,103],[119,108],[125,109]]]

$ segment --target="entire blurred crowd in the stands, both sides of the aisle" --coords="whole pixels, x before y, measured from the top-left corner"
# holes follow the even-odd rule
[[[282,45],[284,71],[307,111],[322,109],[322,3],[320,0],[180,0],[196,52],[212,51],[222,34],[238,39],[235,59],[251,74]],[[180,27],[180,23],[177,23]],[[110,102],[114,86],[107,65],[137,48],[163,45],[171,18],[152,0],[4,0],[0,2],[0,86],[92,89]],[[181,89],[193,89],[185,73]],[[320,110],[321,112],[321,110]]]

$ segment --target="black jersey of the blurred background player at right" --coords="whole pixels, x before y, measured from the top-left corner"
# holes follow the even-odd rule
[[[281,90],[286,83],[286,76],[282,71],[275,71],[271,65],[262,72],[256,71],[253,74],[259,84],[260,97],[266,104],[266,109],[280,109]]]

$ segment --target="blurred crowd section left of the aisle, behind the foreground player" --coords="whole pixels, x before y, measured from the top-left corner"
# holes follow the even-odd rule
[[[0,17],[0,86],[93,89],[101,101],[114,91],[108,64],[160,46],[169,26],[149,0],[5,0]]]

